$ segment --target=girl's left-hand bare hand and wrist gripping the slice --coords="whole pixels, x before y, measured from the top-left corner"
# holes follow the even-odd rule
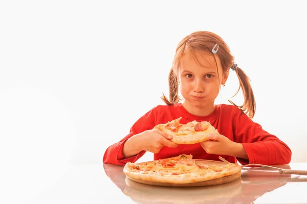
[[[123,154],[125,158],[134,156],[140,151],[150,151],[154,154],[158,153],[164,146],[177,147],[178,144],[169,141],[172,136],[159,131],[159,130],[148,130],[133,137],[129,138],[123,147]]]

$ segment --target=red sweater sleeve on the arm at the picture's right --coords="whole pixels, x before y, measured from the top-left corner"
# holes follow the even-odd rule
[[[236,110],[233,117],[234,142],[242,143],[248,160],[237,158],[241,164],[278,165],[289,164],[292,152],[289,146],[275,135],[263,130],[245,113]]]

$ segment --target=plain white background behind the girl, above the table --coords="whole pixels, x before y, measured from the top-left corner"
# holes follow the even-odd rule
[[[104,151],[163,104],[186,35],[220,35],[251,79],[254,121],[306,162],[307,14],[300,1],[2,1],[0,160],[102,164]],[[216,103],[238,87],[230,74]],[[233,99],[242,104],[242,95]],[[146,153],[142,160],[151,160]]]

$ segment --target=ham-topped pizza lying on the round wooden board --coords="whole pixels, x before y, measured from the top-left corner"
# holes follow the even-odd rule
[[[142,163],[125,164],[123,172],[128,179],[152,185],[159,184],[191,184],[217,180],[233,176],[232,180],[241,175],[241,166],[235,163],[224,163],[210,160],[194,160],[192,155],[179,155],[167,159]],[[208,162],[209,161],[209,162]],[[224,182],[225,183],[225,182]]]

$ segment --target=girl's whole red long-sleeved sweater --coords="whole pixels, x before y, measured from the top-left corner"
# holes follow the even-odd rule
[[[225,104],[216,105],[212,113],[200,117],[190,114],[179,103],[172,106],[159,105],[143,115],[131,127],[130,133],[126,137],[106,149],[103,156],[103,163],[125,165],[127,162],[136,162],[145,154],[145,151],[139,152],[134,157],[123,159],[123,146],[125,141],[133,135],[151,130],[157,124],[167,123],[179,117],[182,117],[180,122],[183,124],[193,120],[209,121],[221,135],[228,137],[234,142],[242,143],[249,160],[225,155],[207,154],[199,143],[180,144],[176,148],[164,146],[158,154],[154,154],[154,160],[174,157],[180,154],[191,154],[193,159],[220,161],[218,156],[222,156],[229,162],[235,163],[238,160],[241,164],[257,163],[277,165],[288,164],[291,161],[291,149],[276,136],[263,130],[258,123],[253,122],[237,107]]]

